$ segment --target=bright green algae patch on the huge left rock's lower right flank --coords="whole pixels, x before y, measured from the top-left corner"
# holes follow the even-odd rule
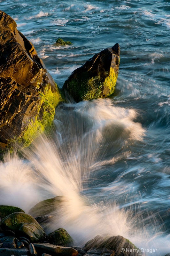
[[[55,108],[62,101],[62,96],[56,84],[56,91],[52,91],[49,86],[46,86],[44,92],[39,92],[40,106],[38,115],[31,119],[27,129],[20,135],[19,143],[23,147],[29,146],[41,133],[50,132],[53,125]]]

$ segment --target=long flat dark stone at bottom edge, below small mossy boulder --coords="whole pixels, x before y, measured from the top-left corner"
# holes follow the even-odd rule
[[[41,253],[47,253],[52,256],[56,256],[56,254],[66,255],[66,256],[78,255],[78,252],[71,247],[57,246],[57,245],[48,244],[48,243],[39,243],[39,244],[33,244],[33,245],[37,253],[40,255]]]

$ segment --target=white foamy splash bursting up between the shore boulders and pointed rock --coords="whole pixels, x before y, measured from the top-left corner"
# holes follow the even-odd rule
[[[16,153],[4,156],[0,203],[28,212],[41,200],[63,196],[47,233],[62,227],[77,244],[96,235],[110,234],[129,238],[139,247],[146,248],[148,241],[153,246],[158,235],[160,240],[161,224],[154,214],[140,209],[139,198],[135,198],[136,204],[132,200],[130,207],[124,199],[106,200],[109,194],[121,194],[121,179],[112,187],[105,187],[110,189],[106,198],[90,195],[103,168],[129,156],[132,145],[142,140],[144,129],[134,122],[137,116],[134,109],[117,107],[110,99],[62,105],[50,138],[40,136],[32,147],[23,150],[23,159]],[[144,224],[148,219],[154,223],[154,231],[152,224]]]

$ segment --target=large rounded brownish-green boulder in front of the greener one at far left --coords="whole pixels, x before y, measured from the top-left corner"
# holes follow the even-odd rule
[[[16,234],[26,236],[32,243],[45,236],[43,228],[29,214],[14,212],[2,220],[2,228],[11,229]]]

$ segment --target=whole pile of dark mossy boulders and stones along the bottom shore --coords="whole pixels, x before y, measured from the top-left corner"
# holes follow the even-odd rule
[[[35,209],[36,207],[35,205]],[[10,214],[5,216],[9,212]],[[20,208],[1,205],[0,216],[5,216],[0,220],[2,256],[137,255],[135,245],[123,236],[96,236],[80,247],[63,228],[46,234],[42,226],[44,223],[48,225],[50,215],[33,218]],[[129,248],[133,253],[122,253],[121,248]]]

